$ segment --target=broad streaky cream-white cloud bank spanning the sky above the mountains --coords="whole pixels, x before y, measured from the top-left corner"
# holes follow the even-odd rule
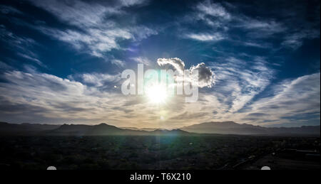
[[[270,96],[252,102],[266,87],[264,81],[270,79],[266,74],[257,76],[237,70],[235,64],[243,60],[228,60],[229,65],[217,65],[220,70],[216,73],[215,91],[201,92],[197,103],[183,103],[183,97],[172,98],[161,112],[139,95],[123,96],[117,89],[100,90],[101,84],[118,81],[116,76],[85,74],[81,75],[82,82],[78,82],[36,71],[6,71],[0,82],[1,121],[86,124],[103,121],[116,126],[166,128],[225,120],[260,125],[320,121],[320,73],[284,80],[272,87]],[[259,69],[269,70],[266,66],[253,66],[253,71]],[[244,84],[240,79],[245,80]],[[161,116],[167,120],[161,120]]]

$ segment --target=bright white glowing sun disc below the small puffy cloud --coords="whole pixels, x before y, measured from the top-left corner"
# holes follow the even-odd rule
[[[148,86],[146,96],[153,104],[163,104],[168,97],[166,86],[161,84]]]

